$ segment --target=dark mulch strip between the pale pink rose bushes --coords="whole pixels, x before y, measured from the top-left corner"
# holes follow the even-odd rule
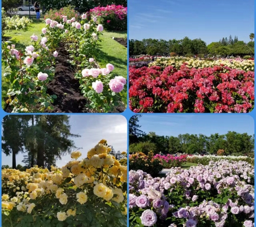
[[[53,103],[53,110],[58,113],[81,113],[89,112],[85,108],[86,98],[80,92],[80,84],[74,78],[74,69],[67,61],[68,53],[63,44],[57,48],[58,57],[55,66],[53,80],[47,84],[47,93],[57,95]]]

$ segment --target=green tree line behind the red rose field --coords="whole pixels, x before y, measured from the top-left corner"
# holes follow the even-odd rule
[[[247,44],[244,41],[239,41],[238,37],[232,36],[222,38],[218,42],[211,42],[206,45],[206,42],[201,39],[189,39],[185,37],[181,40],[170,39],[143,39],[143,40],[129,40],[129,55],[183,55],[194,56],[206,54],[209,55],[253,55],[254,54],[254,33],[250,34],[251,41]]]

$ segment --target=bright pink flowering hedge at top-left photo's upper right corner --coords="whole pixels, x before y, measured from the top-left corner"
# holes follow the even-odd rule
[[[127,7],[122,5],[107,5],[106,7],[95,7],[90,10],[91,16],[99,18],[99,22],[106,30],[127,30]]]

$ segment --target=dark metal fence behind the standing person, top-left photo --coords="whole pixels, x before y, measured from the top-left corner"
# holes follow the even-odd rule
[[[27,17],[29,19],[36,19],[37,13],[34,10],[34,0],[21,0],[18,4],[12,0],[2,0],[2,7],[5,8],[6,15],[12,17],[18,15],[20,17]],[[44,18],[45,8],[40,4],[40,19]]]

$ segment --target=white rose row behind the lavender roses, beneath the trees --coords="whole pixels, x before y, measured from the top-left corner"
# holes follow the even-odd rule
[[[250,158],[248,156],[234,156],[234,155],[223,155],[223,156],[216,156],[216,155],[189,155],[186,157],[187,162],[208,165],[211,161],[220,161],[220,160],[227,160],[227,161],[246,161],[248,164],[254,166],[254,158]]]

